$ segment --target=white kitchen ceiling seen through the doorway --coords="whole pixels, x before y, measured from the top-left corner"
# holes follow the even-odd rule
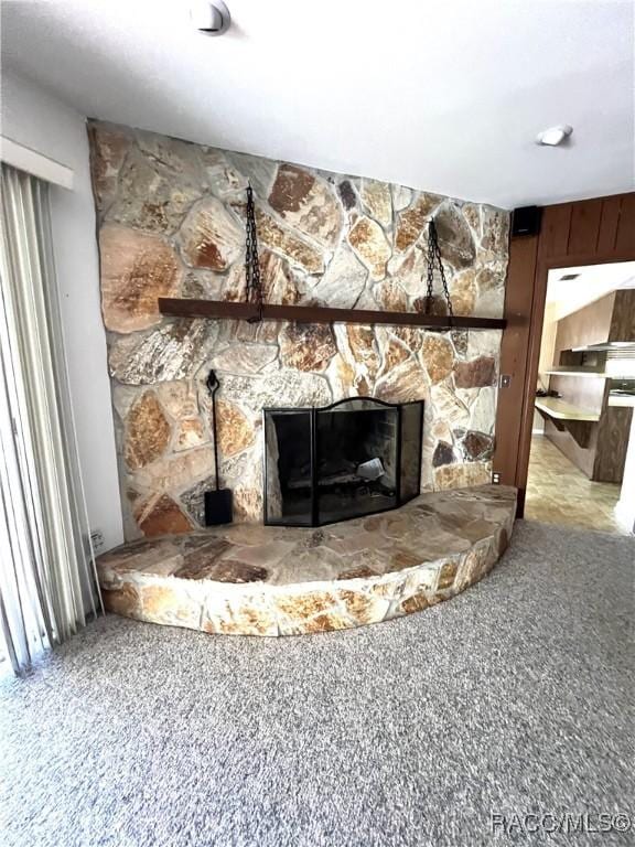
[[[562,279],[569,274],[579,276]],[[546,308],[550,319],[559,321],[620,288],[635,288],[635,261],[558,268],[549,271]]]

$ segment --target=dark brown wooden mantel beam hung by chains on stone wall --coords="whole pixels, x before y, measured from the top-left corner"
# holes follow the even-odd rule
[[[258,308],[252,303],[226,300],[194,300],[160,297],[159,311],[173,318],[207,318],[257,320]],[[320,305],[262,305],[263,321],[297,323],[384,323],[392,326],[423,326],[431,330],[504,330],[504,318],[472,318],[419,312],[381,312],[370,309],[330,309]]]

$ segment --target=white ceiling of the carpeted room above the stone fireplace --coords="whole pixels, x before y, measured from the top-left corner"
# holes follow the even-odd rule
[[[227,2],[209,39],[187,0],[4,0],[2,61],[85,115],[455,197],[633,189],[631,0]]]

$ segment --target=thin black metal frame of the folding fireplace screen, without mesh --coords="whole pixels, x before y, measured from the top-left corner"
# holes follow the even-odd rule
[[[327,412],[332,411],[333,409],[337,408],[338,406],[342,406],[344,404],[351,404],[355,400],[364,400],[372,403],[376,406],[384,406],[389,409],[396,409],[397,410],[397,431],[398,431],[398,438],[397,438],[397,457],[396,457],[396,474],[395,474],[395,494],[396,494],[396,503],[391,506],[385,506],[379,508],[373,508],[368,512],[362,512],[354,515],[344,516],[341,518],[337,518],[336,522],[333,521],[320,521],[319,517],[319,480],[318,480],[318,468],[315,459],[319,455],[319,430],[316,426],[318,421],[318,415],[320,412]],[[401,496],[401,440],[402,440],[402,424],[403,424],[403,407],[406,406],[418,406],[420,407],[420,425],[419,425],[419,450],[418,450],[418,467],[417,467],[417,490],[415,493],[402,497]],[[311,450],[311,521],[306,523],[292,523],[289,519],[286,519],[284,517],[281,517],[280,519],[271,519],[268,516],[268,495],[267,495],[267,489],[268,489],[268,476],[267,476],[267,461],[268,461],[268,450],[267,450],[267,416],[268,415],[276,415],[276,414],[293,414],[297,412],[299,415],[304,414],[309,415],[309,421],[310,421],[310,450]],[[272,406],[272,407],[266,407],[262,409],[262,438],[263,438],[263,451],[262,451],[262,472],[263,472],[263,479],[262,479],[262,512],[263,512],[263,524],[266,526],[311,526],[311,527],[318,527],[318,526],[326,526],[327,524],[332,523],[341,523],[342,521],[354,521],[358,517],[368,517],[369,515],[377,515],[381,514],[384,512],[392,512],[396,508],[399,508],[400,506],[405,505],[406,503],[409,503],[411,500],[417,497],[421,493],[421,469],[422,469],[422,449],[423,449],[423,412],[424,412],[424,401],[423,400],[409,400],[407,403],[386,403],[385,400],[379,400],[376,397],[345,397],[342,400],[337,400],[336,403],[332,403],[329,406],[298,406],[298,407],[289,407],[289,406]]]

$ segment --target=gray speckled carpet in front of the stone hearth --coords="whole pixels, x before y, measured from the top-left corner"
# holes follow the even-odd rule
[[[519,523],[478,586],[259,640],[108,617],[0,685],[4,847],[633,844],[635,542]],[[510,818],[513,821],[513,818]]]

